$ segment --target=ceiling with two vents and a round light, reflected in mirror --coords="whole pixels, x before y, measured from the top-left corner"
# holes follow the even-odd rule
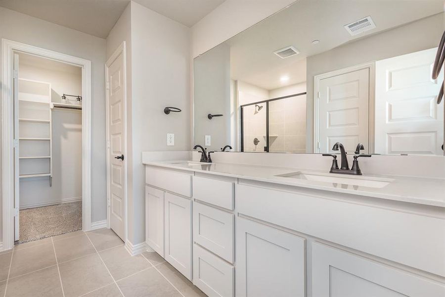
[[[231,78],[266,90],[305,82],[306,57],[443,12],[443,5],[443,0],[300,0],[225,42]],[[369,15],[375,29],[351,36],[343,27]],[[273,54],[291,45],[300,54],[285,59]],[[281,76],[290,79],[283,83]]]

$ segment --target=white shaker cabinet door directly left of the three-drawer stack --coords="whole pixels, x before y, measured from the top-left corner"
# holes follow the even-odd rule
[[[165,259],[192,280],[191,200],[165,193]]]

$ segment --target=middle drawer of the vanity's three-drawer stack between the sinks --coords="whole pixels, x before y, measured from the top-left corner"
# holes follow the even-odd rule
[[[234,222],[231,213],[193,202],[193,240],[223,259],[233,263]]]

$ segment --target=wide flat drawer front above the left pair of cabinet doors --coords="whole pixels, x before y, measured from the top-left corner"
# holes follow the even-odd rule
[[[185,197],[191,197],[191,174],[145,167],[145,183]]]

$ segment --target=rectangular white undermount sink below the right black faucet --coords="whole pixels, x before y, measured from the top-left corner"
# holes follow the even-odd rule
[[[349,176],[333,175],[332,173],[314,174],[314,173],[300,172],[300,171],[286,173],[286,174],[279,174],[275,176],[329,183],[329,184],[341,184],[341,185],[369,187],[369,188],[383,188],[389,185],[392,181],[394,181],[393,179],[389,178],[374,178],[374,177],[362,177],[362,176],[349,177]]]

